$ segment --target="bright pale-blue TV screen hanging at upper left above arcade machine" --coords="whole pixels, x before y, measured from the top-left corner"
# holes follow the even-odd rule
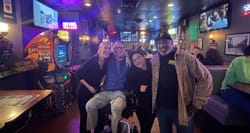
[[[33,16],[35,26],[58,29],[58,12],[37,0],[33,0]]]

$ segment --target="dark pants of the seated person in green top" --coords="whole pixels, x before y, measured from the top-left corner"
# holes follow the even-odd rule
[[[239,90],[228,88],[222,90],[221,97],[232,104],[234,107],[242,111],[250,119],[250,94],[241,92]]]

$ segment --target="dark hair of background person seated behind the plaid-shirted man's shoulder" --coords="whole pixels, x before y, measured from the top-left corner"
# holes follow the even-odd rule
[[[206,52],[206,58],[212,58],[217,64],[223,64],[224,60],[222,56],[220,55],[219,51],[214,48],[209,48]]]

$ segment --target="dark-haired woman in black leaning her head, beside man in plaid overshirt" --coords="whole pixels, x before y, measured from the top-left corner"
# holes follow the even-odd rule
[[[136,115],[141,133],[150,133],[154,122],[152,114],[152,67],[140,51],[130,53],[132,67],[128,71],[126,88],[136,94]]]

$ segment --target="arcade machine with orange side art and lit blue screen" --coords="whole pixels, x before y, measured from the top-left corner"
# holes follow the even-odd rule
[[[52,89],[48,102],[49,110],[62,113],[72,103],[71,80],[67,68],[71,62],[71,44],[69,32],[50,30],[35,36],[25,47],[28,58],[38,62],[39,68],[45,68],[45,74],[37,81],[41,89]]]

